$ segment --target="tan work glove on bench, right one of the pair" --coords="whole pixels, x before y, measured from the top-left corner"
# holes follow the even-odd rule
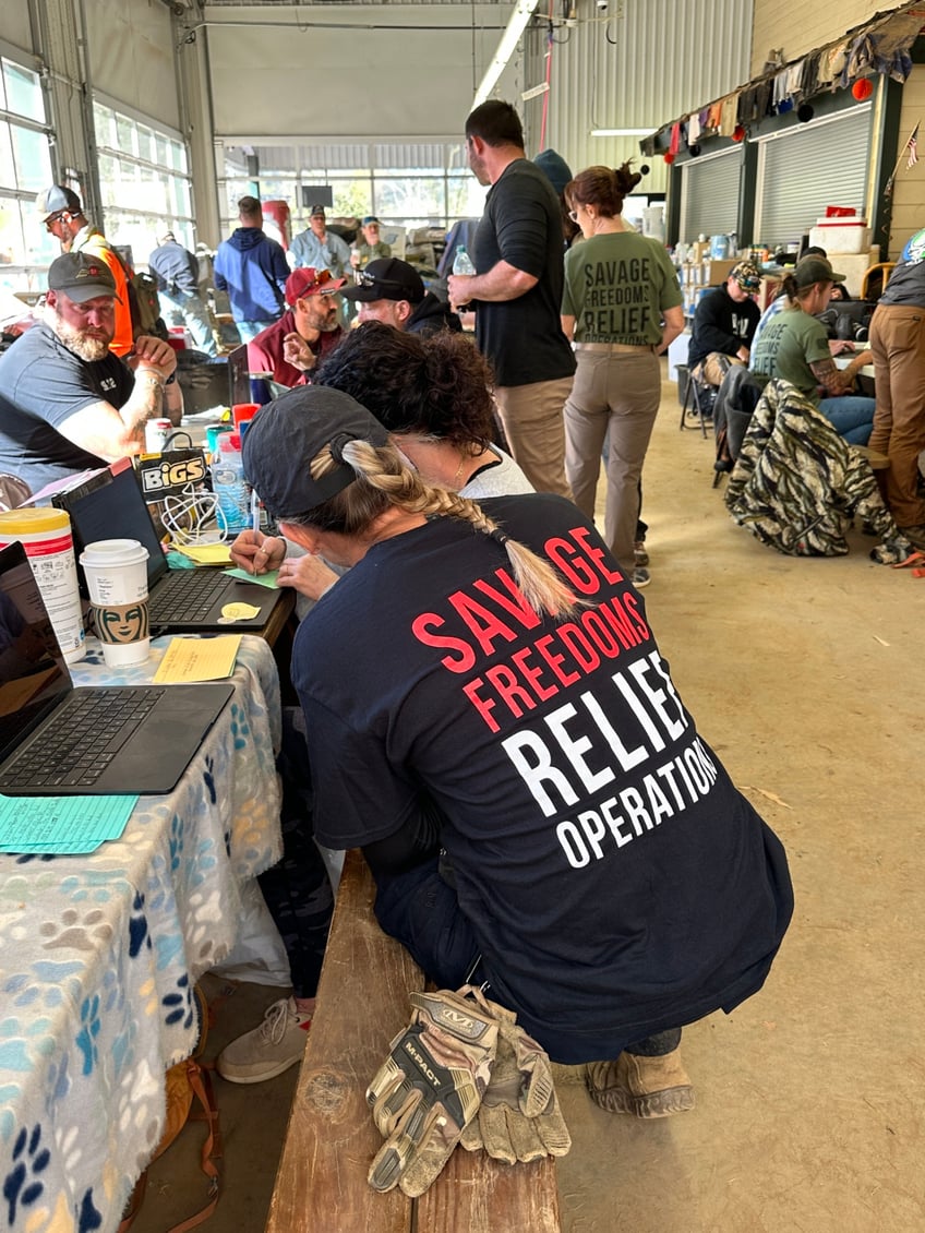
[[[565,1155],[572,1139],[559,1108],[549,1055],[517,1026],[513,1011],[477,996],[497,1020],[498,1044],[477,1116],[462,1131],[462,1147],[467,1152],[485,1148],[507,1164]]]

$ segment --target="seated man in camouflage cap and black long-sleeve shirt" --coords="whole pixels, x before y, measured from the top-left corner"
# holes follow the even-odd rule
[[[708,291],[697,305],[691,328],[687,365],[691,376],[707,385],[722,385],[730,364],[747,364],[761,309],[751,296],[761,286],[761,271],[751,261],[739,261],[726,281]]]

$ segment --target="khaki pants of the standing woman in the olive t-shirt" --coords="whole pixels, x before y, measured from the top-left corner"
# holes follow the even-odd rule
[[[651,351],[577,353],[565,404],[565,470],[575,504],[594,520],[601,451],[607,441],[607,546],[631,576],[639,481],[661,399],[661,365]]]

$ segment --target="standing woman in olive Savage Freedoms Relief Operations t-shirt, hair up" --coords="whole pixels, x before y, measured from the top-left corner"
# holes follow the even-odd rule
[[[583,243],[565,254],[562,329],[578,367],[565,404],[565,470],[575,504],[594,517],[601,451],[607,454],[604,539],[628,570],[635,561],[639,482],[661,399],[657,356],[684,328],[677,274],[662,244],[623,221],[641,179],[629,163],[590,166],[565,186]],[[633,581],[649,582],[636,566]]]

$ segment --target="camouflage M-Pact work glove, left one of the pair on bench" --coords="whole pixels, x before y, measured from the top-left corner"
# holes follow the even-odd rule
[[[386,1142],[369,1184],[423,1195],[459,1143],[488,1086],[498,1023],[464,985],[411,994],[411,1023],[392,1041],[388,1057],[366,1089],[372,1120]],[[482,1002],[485,999],[482,997]]]

